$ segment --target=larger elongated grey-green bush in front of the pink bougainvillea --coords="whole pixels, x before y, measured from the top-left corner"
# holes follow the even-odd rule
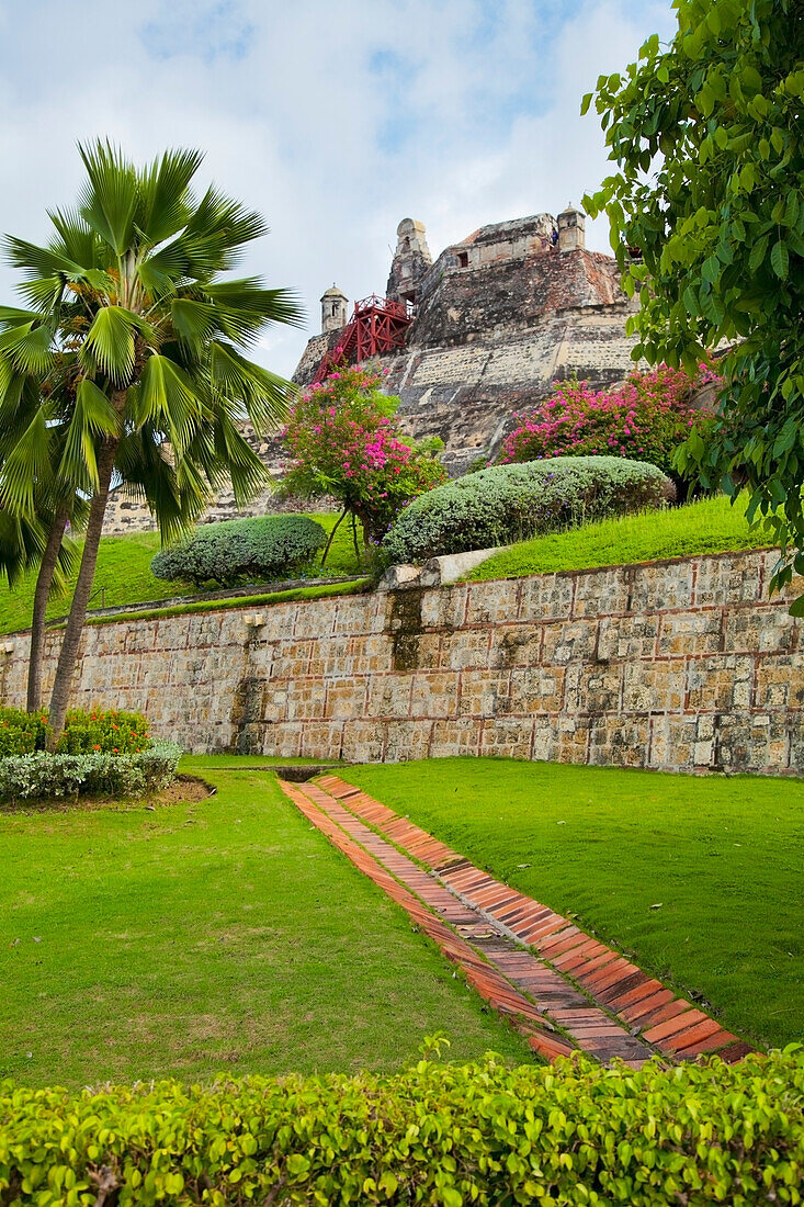
[[[674,495],[670,479],[641,461],[589,456],[500,465],[420,495],[383,547],[394,561],[419,562],[658,507]]]

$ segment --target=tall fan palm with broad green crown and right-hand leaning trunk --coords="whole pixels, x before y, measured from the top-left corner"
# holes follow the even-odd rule
[[[75,210],[49,214],[56,234],[47,246],[4,240],[30,309],[0,315],[0,422],[16,437],[0,472],[0,506],[31,515],[36,484],[51,478],[57,494],[88,500],[51,698],[53,740],[113,474],[139,484],[163,540],[177,536],[223,480],[238,503],[252,497],[267,476],[238,422],[249,419],[257,432],[279,424],[292,387],[246,352],[268,323],[301,317],[289,291],[220,276],[267,228],[215,187],[192,194],[199,152],[168,151],[138,169],[107,142],[78,150],[87,179]]]

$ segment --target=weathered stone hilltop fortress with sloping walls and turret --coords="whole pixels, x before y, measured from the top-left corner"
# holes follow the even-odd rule
[[[584,216],[569,205],[480,227],[433,261],[425,227],[404,218],[385,296],[413,315],[402,348],[378,357],[385,390],[402,400],[400,420],[416,439],[438,436],[449,472],[464,473],[494,455],[517,412],[532,407],[552,383],[577,374],[595,387],[634,368],[625,321],[635,303],[619,287],[611,256],[588,251]],[[321,297],[321,333],[307,344],[293,381],[309,385],[333,354],[350,319],[337,286]],[[254,444],[280,473],[278,437]],[[261,515],[276,509],[270,494],[238,512],[219,496],[204,519]],[[153,529],[139,500],[110,496],[107,533]]]

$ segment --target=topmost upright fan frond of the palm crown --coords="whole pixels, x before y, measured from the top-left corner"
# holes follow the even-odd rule
[[[88,181],[81,189],[78,212],[116,256],[132,246],[138,204],[136,171],[111,142],[78,144]]]

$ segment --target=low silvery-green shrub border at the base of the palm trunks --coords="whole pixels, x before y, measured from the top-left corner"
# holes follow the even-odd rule
[[[130,754],[12,754],[0,759],[0,800],[48,800],[65,797],[142,797],[175,779],[181,758],[175,742],[152,742]]]

